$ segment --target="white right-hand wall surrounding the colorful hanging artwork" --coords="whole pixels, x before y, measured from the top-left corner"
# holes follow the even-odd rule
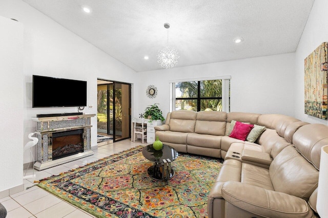
[[[316,0],[312,7],[308,22],[297,47],[295,56],[295,116],[309,123],[327,125],[328,120],[319,119],[304,113],[304,59],[308,57],[322,42],[328,41],[328,1]]]

